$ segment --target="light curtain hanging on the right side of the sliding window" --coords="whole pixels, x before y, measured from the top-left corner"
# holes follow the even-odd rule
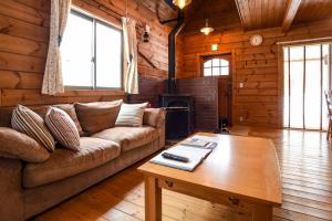
[[[124,39],[124,91],[138,94],[136,21],[122,18]]]

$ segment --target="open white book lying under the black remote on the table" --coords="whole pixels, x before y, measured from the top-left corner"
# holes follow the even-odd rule
[[[188,162],[176,161],[172,159],[166,159],[162,155],[163,152],[169,152],[174,155],[178,155],[181,157],[187,157],[189,159]],[[189,146],[177,145],[167,150],[164,150],[153,159],[151,162],[173,167],[181,170],[193,171],[212,150],[204,149],[204,148],[193,148]]]

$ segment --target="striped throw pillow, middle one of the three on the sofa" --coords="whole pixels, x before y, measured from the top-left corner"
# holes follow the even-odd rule
[[[64,110],[50,107],[45,116],[45,123],[59,144],[71,150],[80,149],[79,129]]]

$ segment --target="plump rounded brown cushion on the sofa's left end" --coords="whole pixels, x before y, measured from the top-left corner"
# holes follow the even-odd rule
[[[50,152],[33,138],[8,127],[0,127],[0,157],[42,162]]]

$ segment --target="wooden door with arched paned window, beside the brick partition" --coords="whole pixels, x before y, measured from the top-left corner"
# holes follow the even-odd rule
[[[231,54],[204,56],[204,77],[218,77],[218,117],[221,123],[231,124]]]

